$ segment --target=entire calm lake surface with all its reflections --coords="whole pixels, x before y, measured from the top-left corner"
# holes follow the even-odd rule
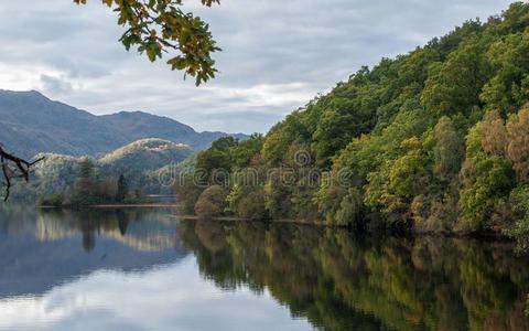
[[[529,330],[508,243],[0,210],[0,330]]]

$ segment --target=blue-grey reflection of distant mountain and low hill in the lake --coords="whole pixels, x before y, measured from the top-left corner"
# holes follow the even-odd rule
[[[42,293],[100,269],[139,271],[187,255],[169,213],[0,209],[0,298]]]

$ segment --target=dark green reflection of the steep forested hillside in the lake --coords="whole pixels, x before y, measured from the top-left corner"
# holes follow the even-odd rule
[[[354,238],[346,231],[186,223],[217,286],[264,289],[327,330],[529,330],[528,259],[509,243]]]

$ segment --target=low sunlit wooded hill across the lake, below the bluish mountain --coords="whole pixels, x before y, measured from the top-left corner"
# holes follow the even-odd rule
[[[19,182],[13,200],[37,200],[46,205],[133,203],[144,194],[171,193],[160,171],[172,171],[193,154],[181,143],[142,139],[102,158],[42,153],[30,184]],[[122,192],[118,192],[119,189]]]

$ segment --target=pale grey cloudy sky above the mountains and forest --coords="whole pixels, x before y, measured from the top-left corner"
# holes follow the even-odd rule
[[[197,130],[266,132],[361,65],[406,53],[507,0],[222,0],[210,22],[218,77],[201,87],[117,42],[100,0],[2,1],[0,88],[36,89],[94,114],[144,110]]]

